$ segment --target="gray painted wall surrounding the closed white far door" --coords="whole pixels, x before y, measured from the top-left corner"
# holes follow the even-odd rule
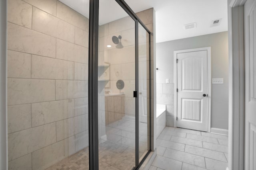
[[[201,47],[211,47],[212,78],[224,78],[224,84],[212,84],[211,127],[228,129],[228,31],[157,43],[157,88],[164,86],[166,78],[174,83],[174,51]],[[163,95],[161,92],[158,88],[157,99]]]

